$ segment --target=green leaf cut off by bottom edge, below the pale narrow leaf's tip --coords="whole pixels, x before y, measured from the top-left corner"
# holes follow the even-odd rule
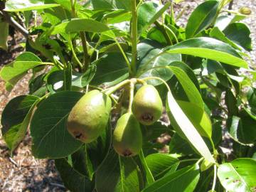
[[[160,178],[158,181],[144,188],[142,192],[192,192],[196,188],[199,177],[198,165],[188,166]]]

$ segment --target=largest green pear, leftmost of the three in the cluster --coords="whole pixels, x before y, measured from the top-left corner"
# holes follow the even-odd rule
[[[93,142],[107,126],[111,107],[111,99],[104,93],[98,90],[87,92],[68,116],[68,132],[81,142]]]

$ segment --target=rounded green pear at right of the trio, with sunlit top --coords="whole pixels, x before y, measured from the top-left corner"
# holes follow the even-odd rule
[[[153,85],[143,85],[135,94],[132,113],[141,124],[154,124],[163,112],[163,102]]]

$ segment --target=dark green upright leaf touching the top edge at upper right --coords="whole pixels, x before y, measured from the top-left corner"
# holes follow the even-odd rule
[[[193,38],[213,23],[218,11],[218,1],[206,1],[196,7],[188,18],[186,38]]]

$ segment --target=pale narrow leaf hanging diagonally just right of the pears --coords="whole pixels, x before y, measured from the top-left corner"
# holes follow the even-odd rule
[[[168,92],[166,100],[166,110],[171,116],[174,117],[178,127],[181,129],[183,134],[186,136],[186,139],[194,146],[201,156],[203,156],[209,162],[215,162],[206,143],[203,141],[201,135],[198,133],[196,128],[193,126],[191,121],[186,117],[186,114],[181,110],[181,107],[178,106],[178,103],[171,95],[171,92]]]

